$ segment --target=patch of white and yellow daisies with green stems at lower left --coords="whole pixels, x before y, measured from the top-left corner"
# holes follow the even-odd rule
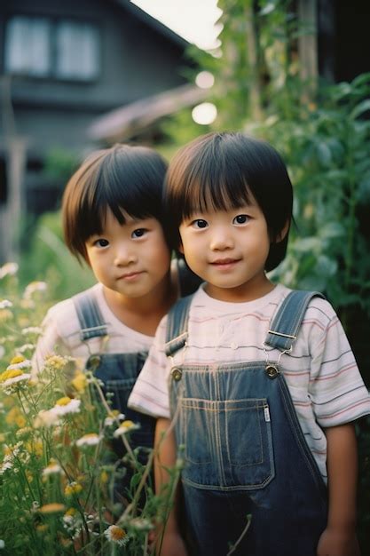
[[[154,450],[147,465],[138,461],[130,447],[138,425],[111,408],[93,369],[51,353],[31,374],[48,284],[22,290],[9,263],[0,287],[0,548],[9,556],[153,554],[148,535],[168,518],[181,461],[154,496]],[[131,472],[128,492],[115,492]]]

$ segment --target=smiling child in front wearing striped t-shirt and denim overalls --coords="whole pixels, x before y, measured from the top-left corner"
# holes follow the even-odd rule
[[[175,508],[161,556],[358,555],[353,421],[370,397],[329,303],[265,274],[287,249],[284,163],[263,141],[210,133],[175,156],[165,196],[205,283],[161,321],[129,401],[159,417],[156,488],[185,459],[190,548]]]

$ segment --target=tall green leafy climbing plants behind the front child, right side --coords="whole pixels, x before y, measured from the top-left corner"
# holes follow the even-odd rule
[[[291,0],[219,0],[218,6],[222,56],[189,50],[197,70],[216,79],[208,100],[218,116],[209,129],[254,134],[283,155],[296,225],[272,279],[327,295],[370,385],[370,74],[352,83],[303,81],[299,37],[314,29],[298,20]],[[192,125],[185,129],[190,115],[181,118],[182,138],[193,139]],[[358,425],[358,443],[358,536],[367,547],[368,419]]]

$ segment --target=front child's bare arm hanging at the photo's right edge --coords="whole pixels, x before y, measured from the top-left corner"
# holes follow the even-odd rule
[[[353,424],[325,429],[328,516],[318,556],[359,556],[356,538],[357,441]]]

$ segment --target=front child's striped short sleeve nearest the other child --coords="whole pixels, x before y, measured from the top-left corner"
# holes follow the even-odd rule
[[[154,343],[129,398],[129,407],[152,417],[169,418],[169,363],[164,352],[167,316],[161,320]]]

